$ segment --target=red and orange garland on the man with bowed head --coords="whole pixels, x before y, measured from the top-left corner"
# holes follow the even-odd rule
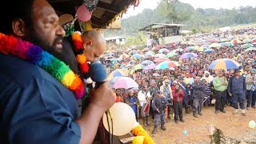
[[[82,34],[78,31],[75,31],[72,34],[72,41],[74,43],[74,50],[77,53],[76,58],[78,65],[80,67],[80,70],[82,73],[87,73],[89,71],[89,66],[86,62],[86,56],[83,54],[83,42],[82,42]]]

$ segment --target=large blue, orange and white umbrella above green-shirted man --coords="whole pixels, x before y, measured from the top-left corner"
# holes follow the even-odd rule
[[[230,58],[222,58],[222,59],[217,59],[214,62],[211,62],[210,66],[208,69],[212,70],[230,70],[230,69],[235,69],[238,68],[240,64],[233,59]]]

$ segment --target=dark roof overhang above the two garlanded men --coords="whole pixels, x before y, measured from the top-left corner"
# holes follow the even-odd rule
[[[75,10],[82,5],[82,0],[49,0],[58,15],[75,15]],[[93,16],[90,19],[94,28],[105,29],[110,22],[126,12],[127,8],[138,0],[99,0]]]

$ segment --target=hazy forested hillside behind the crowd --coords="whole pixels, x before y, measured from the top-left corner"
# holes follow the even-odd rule
[[[256,7],[238,9],[194,9],[178,0],[162,0],[154,10],[146,9],[141,14],[122,19],[122,30],[106,30],[106,36],[131,36],[152,23],[182,23],[183,30],[208,32],[222,26],[235,26],[256,22]]]

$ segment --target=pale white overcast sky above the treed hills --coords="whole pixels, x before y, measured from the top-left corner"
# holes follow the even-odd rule
[[[256,0],[179,0],[180,2],[189,3],[194,6],[194,8],[224,8],[224,9],[232,9],[234,7],[239,6],[256,6]],[[141,13],[142,10],[146,8],[155,9],[158,6],[158,2],[160,0],[141,0],[141,3],[138,7],[130,7],[127,13],[123,16],[123,18],[130,17],[132,15],[136,15]]]

